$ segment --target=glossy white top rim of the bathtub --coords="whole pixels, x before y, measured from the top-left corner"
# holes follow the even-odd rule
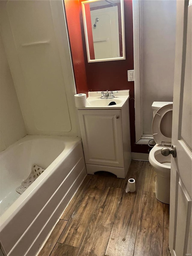
[[[61,139],[64,142],[64,149],[63,151],[55,158],[55,160],[45,169],[41,174],[41,182],[40,179],[36,179],[30,186],[27,188],[26,191],[28,193],[26,194],[26,191],[19,196],[11,205],[10,207],[0,216],[0,233],[4,229],[4,227],[7,225],[7,223],[10,221],[11,218],[13,218],[19,210],[25,205],[25,203],[33,196],[33,194],[44,185],[46,180],[49,178],[49,176],[62,164],[62,161],[67,157],[67,155],[70,154],[70,152],[79,144],[82,143],[81,138],[79,137],[68,137],[68,136],[52,136],[52,135],[26,135],[22,139],[18,140],[17,142],[13,143],[11,146],[9,146],[4,151],[8,151],[9,149],[15,147],[16,145],[20,145],[21,143],[24,143],[29,140],[34,139]],[[2,151],[1,153],[3,153]],[[36,182],[37,181],[37,182]]]

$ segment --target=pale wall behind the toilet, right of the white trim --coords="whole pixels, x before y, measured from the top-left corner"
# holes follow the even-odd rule
[[[153,101],[173,101],[176,1],[141,1],[143,7],[143,134],[152,134]]]

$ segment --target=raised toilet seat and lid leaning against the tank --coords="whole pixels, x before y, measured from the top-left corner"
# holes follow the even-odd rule
[[[173,104],[161,107],[153,117],[152,134],[157,144],[171,145]]]

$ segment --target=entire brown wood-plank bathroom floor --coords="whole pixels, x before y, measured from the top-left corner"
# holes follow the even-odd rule
[[[129,178],[134,193],[125,193]],[[132,161],[126,179],[87,175],[38,256],[169,256],[169,205],[154,185],[144,161]]]

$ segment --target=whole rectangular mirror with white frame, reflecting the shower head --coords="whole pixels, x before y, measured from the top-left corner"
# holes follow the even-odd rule
[[[123,0],[82,2],[88,62],[125,59]]]

